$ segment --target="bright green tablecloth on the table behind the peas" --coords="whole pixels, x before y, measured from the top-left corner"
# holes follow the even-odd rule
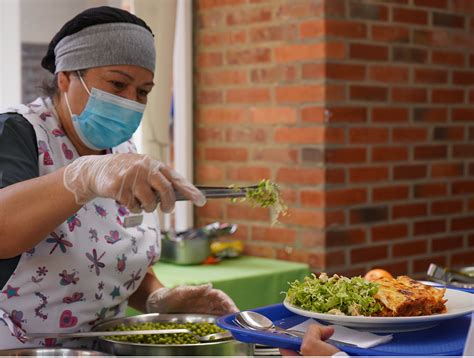
[[[240,310],[282,302],[288,282],[309,274],[307,264],[242,256],[216,265],[180,266],[158,262],[153,269],[167,287],[212,282],[226,292]]]

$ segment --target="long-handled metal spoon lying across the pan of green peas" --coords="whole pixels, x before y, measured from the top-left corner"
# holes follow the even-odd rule
[[[217,341],[221,339],[231,338],[229,331],[211,333],[206,336],[198,336],[188,329],[147,329],[136,331],[89,331],[89,332],[73,332],[73,333],[27,333],[28,339],[41,338],[90,338],[90,337],[107,337],[107,336],[134,336],[137,334],[175,334],[186,333],[192,335],[199,342]]]

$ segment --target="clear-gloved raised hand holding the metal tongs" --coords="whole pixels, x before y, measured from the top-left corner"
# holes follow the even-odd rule
[[[80,157],[66,167],[63,181],[78,204],[85,204],[96,197],[111,198],[133,213],[142,209],[153,211],[158,197],[163,212],[173,211],[176,201],[174,189],[197,206],[206,203],[199,189],[181,175],[142,154]]]

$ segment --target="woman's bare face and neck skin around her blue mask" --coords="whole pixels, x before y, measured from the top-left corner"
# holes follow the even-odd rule
[[[153,88],[153,73],[142,67],[132,65],[118,65],[91,68],[82,74],[82,79],[89,92],[97,88],[102,91],[136,101],[147,103],[147,97]],[[85,147],[77,136],[69,111],[67,109],[64,93],[67,93],[69,105],[73,114],[82,113],[89,99],[84,85],[76,73],[60,72],[58,76],[60,96],[57,98],[56,107],[69,139],[81,155],[94,154]]]

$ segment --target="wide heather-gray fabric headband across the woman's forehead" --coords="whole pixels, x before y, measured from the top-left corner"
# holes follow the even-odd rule
[[[155,72],[153,35],[139,25],[114,22],[64,37],[54,48],[56,71],[135,65]]]

